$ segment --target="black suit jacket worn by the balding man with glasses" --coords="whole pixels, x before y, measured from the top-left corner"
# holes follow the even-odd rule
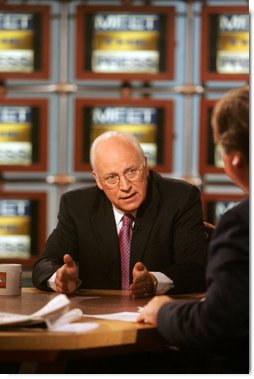
[[[69,253],[79,264],[82,288],[120,289],[118,235],[104,192],[95,186],[65,193],[58,218],[43,257],[34,266],[34,285],[48,289],[46,279]],[[146,201],[135,222],[130,277],[141,261],[149,271],[170,277],[175,282],[172,292],[204,290],[207,239],[196,187],[151,172]]]

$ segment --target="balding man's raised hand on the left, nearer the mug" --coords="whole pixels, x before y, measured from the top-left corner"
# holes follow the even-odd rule
[[[63,260],[63,266],[56,271],[56,291],[70,295],[78,286],[78,268],[69,254],[65,254]]]

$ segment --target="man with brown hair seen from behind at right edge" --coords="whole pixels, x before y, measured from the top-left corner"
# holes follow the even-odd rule
[[[248,193],[247,87],[231,90],[216,104],[212,127],[215,142],[222,148],[225,172]],[[194,349],[209,351],[208,372],[248,373],[248,199],[221,217],[208,252],[206,281],[207,291],[203,301],[177,302],[167,296],[156,296],[145,306],[138,321],[157,325],[168,343],[180,347],[183,352],[188,349],[189,352]],[[186,356],[184,361],[186,363]],[[199,370],[203,363],[199,359],[196,369]],[[195,367],[192,369],[195,370]]]

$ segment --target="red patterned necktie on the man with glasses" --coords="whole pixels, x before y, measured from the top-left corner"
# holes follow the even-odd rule
[[[122,271],[122,289],[128,289],[130,285],[130,249],[132,237],[132,223],[134,217],[130,214],[124,214],[122,221],[123,226],[119,233],[120,253],[121,253],[121,271]]]

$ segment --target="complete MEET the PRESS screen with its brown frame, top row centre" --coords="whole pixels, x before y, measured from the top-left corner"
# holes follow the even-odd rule
[[[174,77],[175,8],[78,5],[78,79]]]

